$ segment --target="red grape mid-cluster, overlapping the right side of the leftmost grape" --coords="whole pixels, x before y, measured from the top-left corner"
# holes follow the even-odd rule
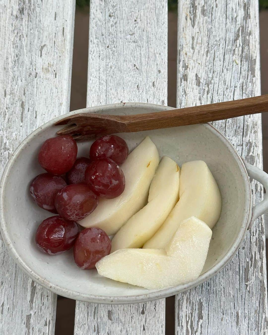
[[[61,189],[55,198],[58,213],[66,220],[79,221],[97,207],[98,196],[86,184],[71,184]]]

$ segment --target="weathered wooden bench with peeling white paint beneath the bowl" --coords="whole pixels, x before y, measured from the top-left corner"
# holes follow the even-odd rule
[[[33,130],[69,111],[75,1],[0,1],[0,173]],[[179,0],[177,106],[260,94],[258,1]],[[91,0],[87,106],[167,105],[167,1]],[[214,122],[262,167],[261,116]],[[253,201],[262,189],[253,183]],[[19,222],[18,222],[19,224]],[[26,242],[25,242],[26,243]],[[29,279],[0,241],[0,334],[53,335],[56,294]],[[175,298],[176,334],[267,332],[265,235],[256,220],[215,277]],[[75,334],[165,333],[165,299],[76,302]]]

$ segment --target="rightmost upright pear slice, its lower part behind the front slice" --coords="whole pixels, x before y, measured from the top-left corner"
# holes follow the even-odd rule
[[[143,248],[162,249],[172,238],[179,223],[190,216],[199,218],[213,228],[220,212],[220,191],[207,164],[202,160],[185,163],[180,177],[180,200]]]

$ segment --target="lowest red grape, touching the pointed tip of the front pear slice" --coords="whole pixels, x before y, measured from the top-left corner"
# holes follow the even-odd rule
[[[82,269],[93,269],[97,261],[110,254],[111,247],[111,240],[104,230],[85,228],[75,241],[74,261]]]

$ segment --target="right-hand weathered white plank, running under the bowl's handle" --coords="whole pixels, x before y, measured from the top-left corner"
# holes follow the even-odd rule
[[[258,1],[179,1],[177,106],[260,94]],[[217,121],[249,163],[262,167],[261,116]],[[252,182],[253,203],[262,188]],[[176,296],[176,333],[267,334],[265,236],[259,218],[236,256],[208,282]]]

